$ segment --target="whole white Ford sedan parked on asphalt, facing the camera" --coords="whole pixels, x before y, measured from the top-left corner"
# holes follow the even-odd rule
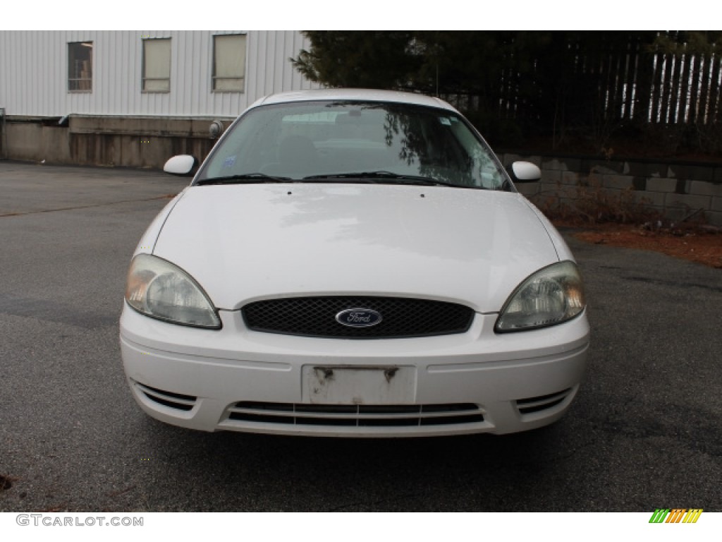
[[[166,164],[189,173],[193,158]],[[570,250],[454,108],[423,95],[263,98],[139,242],[121,316],[131,392],[205,431],[524,431],[578,392]]]

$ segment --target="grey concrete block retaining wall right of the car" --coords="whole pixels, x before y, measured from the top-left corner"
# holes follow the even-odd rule
[[[609,195],[622,194],[669,220],[681,220],[702,210],[713,225],[722,226],[722,160],[718,163],[664,163],[604,158],[560,158],[502,153],[506,165],[527,160],[541,168],[541,182],[518,185],[534,202],[573,200],[578,188],[594,187]]]

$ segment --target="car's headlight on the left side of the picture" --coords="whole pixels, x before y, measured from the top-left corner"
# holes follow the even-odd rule
[[[150,254],[131,262],[128,304],[151,318],[219,330],[221,320],[203,288],[180,267]]]

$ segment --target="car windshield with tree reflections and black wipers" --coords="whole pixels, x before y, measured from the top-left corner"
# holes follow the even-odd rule
[[[195,184],[369,182],[503,189],[495,156],[458,114],[381,102],[295,102],[245,113]]]

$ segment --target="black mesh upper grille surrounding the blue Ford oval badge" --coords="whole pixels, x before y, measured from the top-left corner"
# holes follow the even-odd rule
[[[346,309],[371,309],[382,315],[373,327],[348,327],[336,322]],[[306,337],[381,339],[463,333],[474,311],[464,305],[428,299],[323,296],[269,299],[243,307],[249,329]]]

